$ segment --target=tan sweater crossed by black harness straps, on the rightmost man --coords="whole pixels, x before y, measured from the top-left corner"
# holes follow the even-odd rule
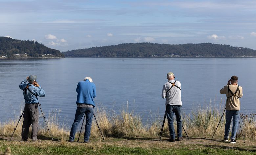
[[[237,85],[229,85],[229,89],[235,93],[237,89]],[[243,96],[243,89],[239,86],[239,91],[236,92],[236,96],[241,98]],[[221,94],[226,94],[227,100],[226,100],[226,110],[240,110],[240,100],[236,96],[232,96],[232,94],[228,91],[228,85],[225,85],[221,90]],[[228,98],[229,96],[232,96]]]

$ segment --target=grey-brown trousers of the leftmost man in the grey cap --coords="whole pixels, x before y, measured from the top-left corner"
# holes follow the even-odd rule
[[[31,125],[31,138],[37,139],[39,112],[36,104],[25,104],[21,137],[28,140],[29,127]]]

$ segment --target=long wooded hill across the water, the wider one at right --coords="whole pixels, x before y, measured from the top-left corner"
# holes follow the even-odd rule
[[[250,57],[256,50],[212,43],[125,43],[63,52],[70,57]]]

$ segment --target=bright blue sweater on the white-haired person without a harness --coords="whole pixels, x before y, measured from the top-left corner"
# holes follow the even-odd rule
[[[96,97],[96,88],[95,84],[92,82],[89,82],[89,80],[80,81],[77,84],[76,88],[77,94],[77,100],[76,103],[84,103],[84,104],[90,104],[95,106],[93,98]]]

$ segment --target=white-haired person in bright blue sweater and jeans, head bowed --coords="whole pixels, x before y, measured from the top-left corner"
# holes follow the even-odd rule
[[[77,126],[80,123],[83,115],[86,116],[85,131],[84,131],[84,143],[89,142],[92,120],[93,120],[93,108],[95,107],[93,98],[96,97],[96,88],[92,78],[85,77],[84,81],[80,81],[77,84],[77,108],[75,112],[75,119],[72,124],[69,142],[73,142],[75,139],[75,133]]]

